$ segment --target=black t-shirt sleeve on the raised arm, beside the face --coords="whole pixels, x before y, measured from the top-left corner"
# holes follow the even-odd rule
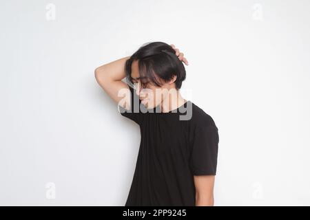
[[[141,118],[143,117],[142,112],[140,110],[141,100],[134,92],[134,89],[128,86],[130,89],[130,110],[127,110],[121,105],[118,104],[118,111],[126,118],[133,120],[137,124],[141,123]]]

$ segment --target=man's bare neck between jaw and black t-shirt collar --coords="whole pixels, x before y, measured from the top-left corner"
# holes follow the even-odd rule
[[[185,102],[187,102],[187,100],[180,95],[180,91],[176,90],[176,93],[172,93],[171,96],[168,94],[165,100],[161,102],[161,112],[165,113],[178,109],[178,107],[182,106]]]

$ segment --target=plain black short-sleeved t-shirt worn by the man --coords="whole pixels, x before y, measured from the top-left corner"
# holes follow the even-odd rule
[[[120,105],[118,110],[140,126],[141,144],[125,206],[195,206],[194,175],[216,175],[214,120],[190,100],[167,113],[158,112],[159,105],[147,111],[132,87],[130,91],[131,110]],[[181,115],[187,120],[180,120]]]

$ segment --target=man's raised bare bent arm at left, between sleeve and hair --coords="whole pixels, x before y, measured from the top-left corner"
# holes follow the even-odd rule
[[[124,96],[118,96],[118,91],[121,89],[127,89],[130,93],[127,83],[121,81],[125,78],[125,61],[130,58],[126,56],[111,63],[101,65],[94,70],[97,83],[103,88],[103,90],[116,102],[119,103],[123,100]],[[125,101],[122,102],[121,107],[129,109],[130,96],[126,96]]]

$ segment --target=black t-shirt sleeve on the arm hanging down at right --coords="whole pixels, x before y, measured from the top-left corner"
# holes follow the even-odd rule
[[[189,162],[193,175],[216,175],[218,141],[216,126],[197,129]]]

